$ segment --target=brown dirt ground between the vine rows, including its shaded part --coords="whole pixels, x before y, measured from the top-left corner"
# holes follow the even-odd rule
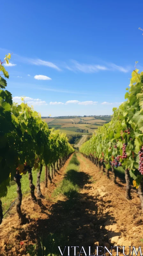
[[[91,246],[93,254],[97,245],[109,248],[111,244],[135,247],[142,245],[139,240],[143,236],[143,220],[137,194],[133,190],[132,201],[127,201],[124,184],[119,179],[117,182],[120,187],[114,185],[80,153],[77,156],[80,165],[79,172],[74,173],[74,180],[80,188],[79,193],[73,193],[70,199],[59,195],[55,202],[51,198],[57,182],[64,178],[69,159],[61,174],[55,177],[54,184],[47,190],[42,188],[46,198],[41,200],[41,207],[33,204],[30,196],[24,199],[24,209],[32,219],[30,224],[19,227],[15,212],[11,212],[11,216],[3,221],[0,226],[0,255],[28,255],[26,246],[32,246],[36,241],[40,244],[39,237],[46,237],[42,242],[47,250],[46,255],[60,255],[57,246],[61,246],[63,250],[68,245],[79,248],[84,246],[86,250]],[[23,245],[20,244],[21,241]]]

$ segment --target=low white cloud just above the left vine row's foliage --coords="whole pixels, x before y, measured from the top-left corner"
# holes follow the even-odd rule
[[[18,104],[22,103],[21,97],[19,97],[19,96],[13,97],[12,100],[13,100],[13,102],[18,103]],[[31,97],[24,97],[24,101],[30,105],[37,105],[37,106],[48,105],[45,100],[42,101],[40,99],[33,99]]]

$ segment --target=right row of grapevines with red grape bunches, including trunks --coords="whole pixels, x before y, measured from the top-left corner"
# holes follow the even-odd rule
[[[126,198],[131,199],[131,183],[138,189],[143,210],[143,72],[132,72],[125,99],[119,108],[113,108],[112,120],[98,128],[96,134],[85,142],[80,152],[103,167],[109,176],[115,170],[125,173]]]

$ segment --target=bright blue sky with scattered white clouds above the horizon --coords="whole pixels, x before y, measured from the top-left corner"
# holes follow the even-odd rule
[[[0,59],[13,52],[7,89],[42,116],[110,115],[135,61],[143,70],[140,0],[8,0],[2,9]]]

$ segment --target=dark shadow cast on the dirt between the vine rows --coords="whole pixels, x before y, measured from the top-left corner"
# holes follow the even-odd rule
[[[65,174],[64,179],[70,180],[79,188],[91,184],[90,176],[85,172],[70,170]],[[51,205],[48,219],[39,219],[31,223],[30,229],[34,231],[37,249],[35,254],[30,255],[61,255],[58,246],[62,252],[65,246],[79,246],[77,252],[80,252],[81,246],[84,246],[88,252],[88,246],[91,246],[91,254],[94,254],[95,242],[99,242],[100,245],[108,242],[107,231],[103,224],[108,219],[110,224],[115,223],[115,220],[109,212],[103,214],[103,208],[97,207],[97,201],[101,201],[100,205],[104,206],[103,198],[95,199],[94,196],[88,195],[88,189],[84,191],[87,192],[82,194],[75,190],[70,191],[66,194],[66,201],[58,200]],[[29,246],[33,248],[33,245]],[[63,255],[68,255],[67,247]],[[74,255],[73,251],[70,255]]]

